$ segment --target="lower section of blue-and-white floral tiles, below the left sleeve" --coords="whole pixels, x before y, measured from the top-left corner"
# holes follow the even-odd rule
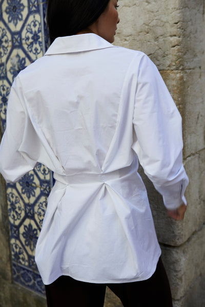
[[[41,166],[41,168],[45,167]],[[50,171],[47,170],[47,172],[50,174]],[[42,182],[38,181],[38,185],[34,182],[34,178],[37,178],[36,174],[38,174],[38,170],[31,171],[16,184],[8,184],[7,199],[12,259],[17,268],[13,279],[31,290],[40,290],[40,294],[42,294],[44,286],[40,285],[42,281],[35,265],[34,254],[51,184],[50,178],[49,180],[44,179],[48,190],[42,191]],[[31,276],[32,278],[33,276],[37,277],[37,286],[36,280],[30,281]]]

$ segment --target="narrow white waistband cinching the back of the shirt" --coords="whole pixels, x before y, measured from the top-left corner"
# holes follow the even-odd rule
[[[106,181],[125,178],[131,174],[137,174],[137,168],[134,165],[128,167],[120,168],[111,172],[101,172],[101,173],[78,173],[73,175],[61,175],[54,173],[53,177],[56,181],[70,185],[70,184],[86,184],[86,183],[106,183]]]

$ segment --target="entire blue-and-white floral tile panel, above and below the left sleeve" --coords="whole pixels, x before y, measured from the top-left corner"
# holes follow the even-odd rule
[[[42,56],[48,46],[45,15],[46,2],[0,0],[0,122],[3,131],[14,78]],[[34,254],[52,185],[52,173],[42,164],[17,183],[7,185],[13,281],[41,295],[45,295],[45,289]]]

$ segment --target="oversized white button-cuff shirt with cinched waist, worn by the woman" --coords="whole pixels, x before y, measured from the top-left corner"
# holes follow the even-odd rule
[[[16,182],[54,172],[35,259],[60,275],[149,278],[160,248],[138,159],[165,206],[186,203],[181,117],[153,62],[95,34],[57,38],[11,88],[0,171]]]

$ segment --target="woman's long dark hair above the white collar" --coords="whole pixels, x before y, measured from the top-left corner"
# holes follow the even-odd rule
[[[109,0],[48,0],[47,25],[50,43],[58,36],[75,35],[92,25]]]

